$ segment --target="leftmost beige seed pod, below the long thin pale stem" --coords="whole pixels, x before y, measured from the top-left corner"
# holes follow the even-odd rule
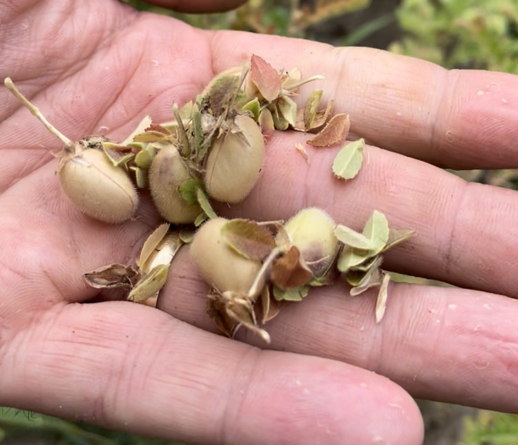
[[[123,223],[137,209],[137,191],[129,176],[100,150],[80,150],[61,158],[56,174],[66,196],[91,218]]]

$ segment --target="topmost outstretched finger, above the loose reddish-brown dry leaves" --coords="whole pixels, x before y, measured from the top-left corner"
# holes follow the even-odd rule
[[[216,72],[257,54],[275,68],[325,75],[324,82],[303,91],[322,88],[324,100],[333,99],[336,112],[349,113],[352,132],[370,144],[451,169],[518,166],[515,75],[447,71],[381,50],[276,36],[211,36]]]

